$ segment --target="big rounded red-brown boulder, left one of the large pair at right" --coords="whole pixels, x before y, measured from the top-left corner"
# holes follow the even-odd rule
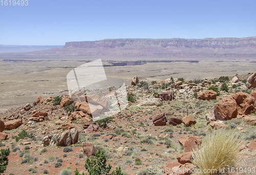
[[[238,114],[237,102],[233,97],[226,97],[215,105],[214,115],[216,120],[230,120]]]

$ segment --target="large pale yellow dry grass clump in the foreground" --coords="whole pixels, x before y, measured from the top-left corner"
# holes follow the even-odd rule
[[[216,174],[214,171],[207,173],[208,169],[216,169],[217,173],[223,168],[228,170],[236,164],[241,143],[239,133],[234,130],[214,131],[205,137],[200,149],[192,153],[192,163],[201,170],[201,174]]]

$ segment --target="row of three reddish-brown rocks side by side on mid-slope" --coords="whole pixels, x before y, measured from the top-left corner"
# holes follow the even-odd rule
[[[178,117],[169,117],[169,121],[167,122],[167,119],[165,117],[165,113],[158,114],[153,119],[154,126],[165,126],[166,123],[172,124],[173,126],[177,126],[177,124],[184,123],[185,127],[190,127],[192,124],[196,124],[196,119],[193,115],[189,114],[182,119]]]

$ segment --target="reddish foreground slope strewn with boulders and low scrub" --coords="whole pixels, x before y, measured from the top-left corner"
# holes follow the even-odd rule
[[[230,166],[256,168],[256,73],[148,83],[134,77],[126,87],[129,105],[106,120],[92,121],[88,103],[73,102],[66,95],[38,96],[33,104],[1,113],[0,147],[11,151],[5,173],[74,174],[76,168],[88,172],[86,159],[102,151],[111,172],[120,166],[123,174],[150,174],[154,168],[165,169],[158,174],[172,174],[166,168],[199,167],[193,150],[214,131],[239,133],[241,145],[235,139],[222,149],[237,153]],[[107,106],[106,100],[92,98],[97,110]]]

